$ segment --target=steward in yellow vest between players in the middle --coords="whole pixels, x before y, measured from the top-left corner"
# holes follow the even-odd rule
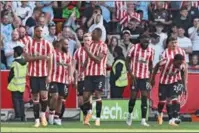
[[[116,58],[110,76],[111,98],[122,98],[124,88],[128,85],[125,57],[122,48],[119,46],[115,47],[113,54]]]

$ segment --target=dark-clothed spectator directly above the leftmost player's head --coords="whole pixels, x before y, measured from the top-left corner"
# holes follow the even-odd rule
[[[35,7],[33,10],[32,16],[29,17],[26,21],[27,31],[29,31],[29,28],[37,25],[37,22],[38,22],[40,16],[41,16],[41,9],[38,7]]]

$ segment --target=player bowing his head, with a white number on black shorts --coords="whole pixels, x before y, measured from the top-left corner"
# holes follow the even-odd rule
[[[154,68],[152,75],[151,84],[155,84],[155,75],[160,69],[160,85],[159,85],[159,100],[160,101],[171,101],[172,105],[168,114],[172,116],[172,119],[169,120],[169,124],[172,126],[178,126],[175,123],[176,118],[178,118],[179,112],[179,101],[178,95],[180,95],[182,90],[182,85],[179,84],[178,74],[183,74],[185,72],[185,62],[184,57],[181,54],[176,54],[174,59],[166,58],[161,60]],[[182,78],[185,79],[185,75],[182,75]],[[185,83],[185,80],[183,80]],[[186,87],[185,87],[186,91]]]

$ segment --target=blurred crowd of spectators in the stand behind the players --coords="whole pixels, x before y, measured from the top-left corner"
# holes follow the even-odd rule
[[[177,37],[190,71],[199,68],[198,1],[1,1],[0,9],[1,70],[9,69],[12,48],[25,36],[34,36],[35,25],[43,27],[43,38],[50,42],[67,38],[71,55],[82,43],[84,33],[101,28],[101,40],[109,48],[108,67],[114,61],[116,46],[126,56],[143,33],[152,37],[154,65],[167,48],[167,39]]]

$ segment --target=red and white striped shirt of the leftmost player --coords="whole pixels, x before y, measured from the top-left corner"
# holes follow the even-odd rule
[[[30,56],[50,56],[54,51],[52,44],[44,39],[41,39],[39,42],[33,39],[25,47],[26,53]],[[30,61],[28,63],[28,75],[33,77],[47,76],[47,60]]]

